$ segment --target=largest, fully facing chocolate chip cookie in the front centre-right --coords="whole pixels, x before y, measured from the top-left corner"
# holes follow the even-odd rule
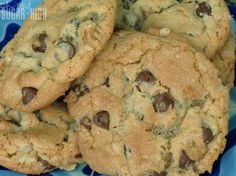
[[[184,42],[115,33],[66,97],[83,159],[108,175],[211,171],[227,134],[228,90]]]

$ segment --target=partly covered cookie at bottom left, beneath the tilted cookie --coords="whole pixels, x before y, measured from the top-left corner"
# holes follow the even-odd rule
[[[59,106],[23,113],[0,105],[0,165],[25,174],[73,170],[82,161],[76,127]]]

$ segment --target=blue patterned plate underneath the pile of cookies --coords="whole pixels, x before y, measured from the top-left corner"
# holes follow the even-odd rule
[[[15,33],[30,14],[31,10],[37,7],[42,0],[0,0],[0,50],[14,37]],[[231,14],[236,20],[236,6],[229,4]],[[236,23],[233,23],[233,30],[236,32]],[[202,176],[236,176],[236,87],[231,91],[230,120],[229,120],[228,142],[224,153],[214,164],[211,174]],[[101,174],[92,171],[87,165],[80,165],[73,172],[55,170],[42,174],[41,176],[99,176]],[[0,176],[26,176],[0,168]]]

